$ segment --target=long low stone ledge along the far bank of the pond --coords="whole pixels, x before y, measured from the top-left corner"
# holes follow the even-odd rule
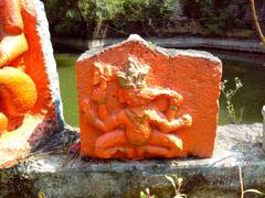
[[[53,44],[64,46],[72,50],[86,51],[87,48],[102,48],[113,44],[123,42],[126,38],[102,38],[102,40],[85,40],[76,37],[52,37]],[[181,47],[206,47],[226,51],[241,51],[265,53],[265,50],[259,44],[258,40],[239,40],[239,38],[205,38],[199,36],[174,36],[166,38],[146,37],[158,46],[167,48]]]

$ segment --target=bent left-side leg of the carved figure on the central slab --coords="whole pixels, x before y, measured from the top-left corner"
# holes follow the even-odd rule
[[[125,153],[128,157],[132,155],[132,151],[127,146],[124,131],[105,133],[96,140],[95,155],[97,157],[110,158],[117,152]]]

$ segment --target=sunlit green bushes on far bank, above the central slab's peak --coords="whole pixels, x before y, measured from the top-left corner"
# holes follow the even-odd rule
[[[142,29],[155,32],[167,26],[174,0],[45,0],[49,22],[56,34],[83,37],[136,33]],[[129,33],[126,33],[128,30]]]

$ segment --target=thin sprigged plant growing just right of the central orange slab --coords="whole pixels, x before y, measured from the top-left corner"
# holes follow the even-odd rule
[[[239,77],[235,77],[234,80],[235,80],[234,89],[226,90],[226,84],[229,80],[223,80],[221,82],[221,90],[225,97],[225,108],[227,110],[230,121],[232,123],[241,123],[243,111],[241,111],[240,117],[237,117],[234,105],[232,102],[232,98],[235,96],[235,94],[239,91],[239,89],[243,87],[243,84],[241,82],[241,79]]]

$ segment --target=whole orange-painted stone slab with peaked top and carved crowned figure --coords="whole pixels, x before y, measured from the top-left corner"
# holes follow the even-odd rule
[[[219,116],[221,61],[153,48],[137,35],[76,63],[81,155],[210,157]]]

